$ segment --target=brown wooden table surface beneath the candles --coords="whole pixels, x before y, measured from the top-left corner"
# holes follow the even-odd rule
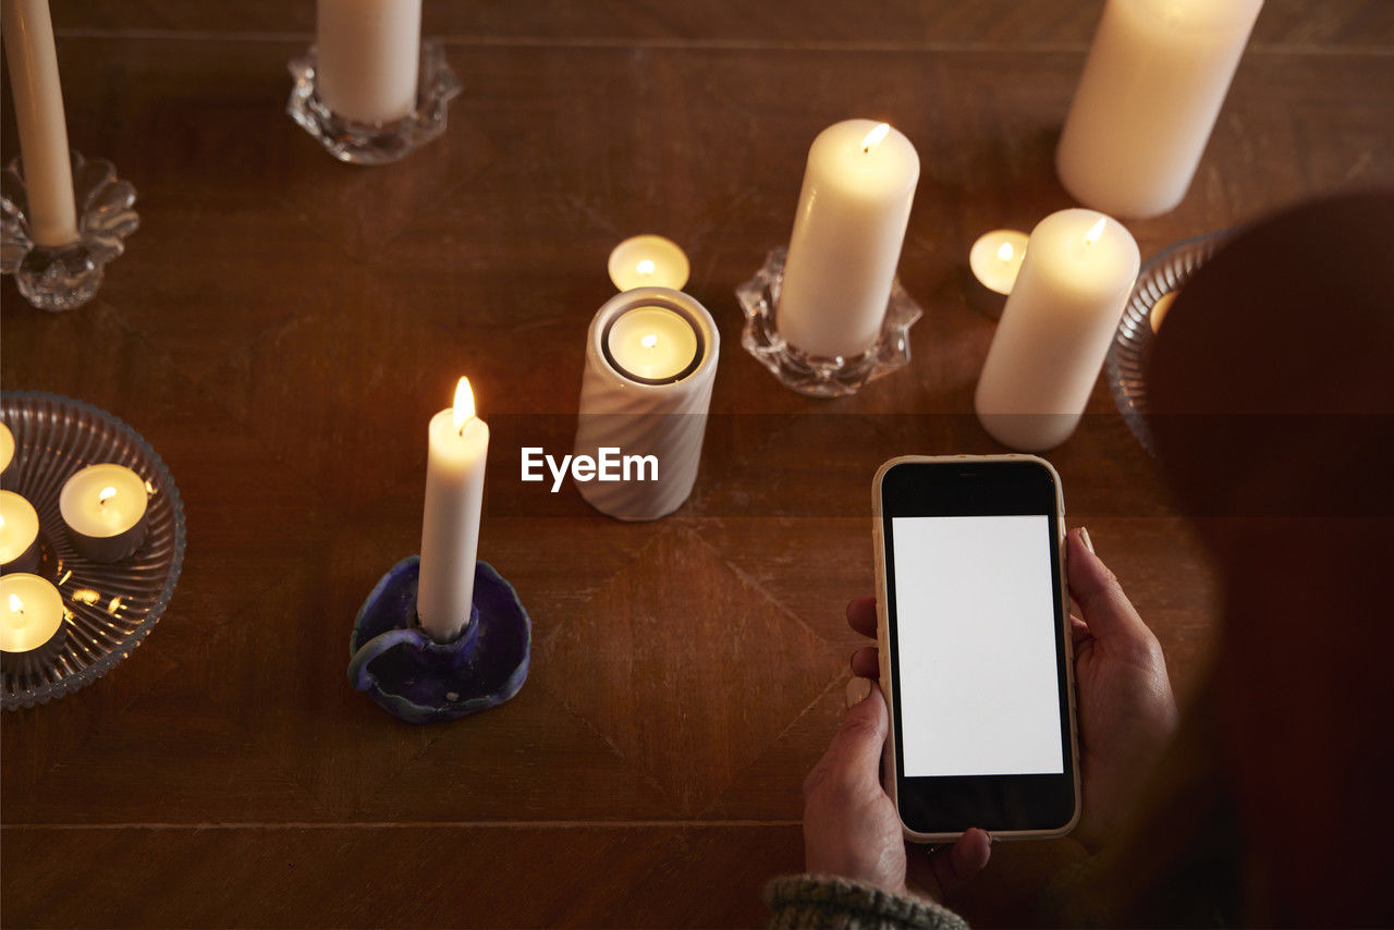
[[[71,142],[134,181],[141,229],[78,311],[4,282],[0,383],[141,431],[188,551],[130,660],[4,714],[3,920],[758,924],[763,883],[800,869],[843,605],[873,586],[873,471],[999,450],[972,416],[994,325],[963,264],[1071,205],[1054,144],[1101,4],[432,0],[464,93],[443,138],[375,169],[284,116],[312,7],[54,3]],[[926,317],[909,368],[813,400],[742,351],[733,289],[849,116],[920,152],[901,279]],[[1129,229],[1146,258],[1394,183],[1391,117],[1394,4],[1269,0],[1185,202]],[[521,484],[519,448],[570,450],[605,259],[640,231],[687,250],[722,349],[691,499],[631,526]],[[533,671],[503,707],[408,726],[348,689],[347,639],[418,548],[427,421],[461,374],[493,428],[480,555],[533,616]],[[1103,379],[1050,457],[1189,692],[1213,573]],[[1076,855],[998,846],[955,904],[1020,920]]]

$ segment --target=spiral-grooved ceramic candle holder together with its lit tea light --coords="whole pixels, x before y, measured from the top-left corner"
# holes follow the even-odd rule
[[[592,466],[585,471],[594,480],[576,485],[592,508],[618,520],[657,520],[687,499],[719,349],[711,314],[682,291],[641,287],[599,308],[587,335],[574,448]],[[620,480],[604,480],[605,456]],[[636,463],[627,478],[622,456]],[[650,457],[651,468],[641,462]]]

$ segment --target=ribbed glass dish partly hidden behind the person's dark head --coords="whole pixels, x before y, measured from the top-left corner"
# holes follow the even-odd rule
[[[1182,240],[1157,252],[1142,266],[1138,283],[1124,307],[1124,317],[1108,347],[1105,371],[1118,413],[1149,455],[1156,455],[1147,429],[1147,356],[1151,351],[1151,308],[1165,294],[1181,289],[1230,237],[1230,231],[1206,233]]]

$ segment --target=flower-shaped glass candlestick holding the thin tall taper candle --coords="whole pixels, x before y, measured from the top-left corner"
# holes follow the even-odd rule
[[[14,275],[24,298],[50,312],[92,300],[106,264],[125,251],[125,237],[141,224],[131,209],[135,187],[120,180],[110,162],[88,162],[78,152],[71,158],[78,238],[67,245],[39,245],[31,238],[20,159],[0,173],[0,272]]]

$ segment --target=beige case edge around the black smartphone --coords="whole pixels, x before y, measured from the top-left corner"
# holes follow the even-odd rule
[[[875,544],[875,639],[878,651],[881,654],[881,694],[885,697],[887,710],[894,707],[891,699],[891,689],[895,686],[895,669],[891,668],[889,650],[887,648],[887,640],[889,639],[889,625],[887,620],[887,594],[885,594],[885,538],[881,531],[881,478],[885,473],[896,464],[905,462],[1036,462],[1039,464],[1050,468],[1051,475],[1055,478],[1055,526],[1059,527],[1059,590],[1061,590],[1061,616],[1064,618],[1064,636],[1065,636],[1065,680],[1066,693],[1069,694],[1069,754],[1073,761],[1075,772],[1075,814],[1069,818],[1069,823],[1058,830],[994,830],[994,839],[1050,839],[1054,837],[1064,837],[1075,828],[1079,823],[1080,811],[1080,795],[1079,795],[1079,735],[1078,735],[1078,721],[1075,712],[1075,650],[1072,637],[1069,633],[1069,584],[1065,573],[1065,492],[1061,487],[1059,473],[1055,471],[1052,466],[1046,459],[1040,456],[1027,455],[1001,455],[1001,456],[898,456],[881,464],[877,468],[875,478],[871,481],[871,520],[873,520],[873,540]],[[898,767],[898,760],[895,757],[895,712],[888,712],[891,728],[885,740],[885,754],[882,757],[882,778],[885,789],[891,793],[891,800],[895,802],[896,816],[901,811],[901,802],[896,798],[896,779],[895,772]],[[913,842],[949,842],[958,839],[960,832],[948,834],[923,834],[910,830],[905,825],[905,818],[901,818],[901,830],[905,832],[905,838]]]

